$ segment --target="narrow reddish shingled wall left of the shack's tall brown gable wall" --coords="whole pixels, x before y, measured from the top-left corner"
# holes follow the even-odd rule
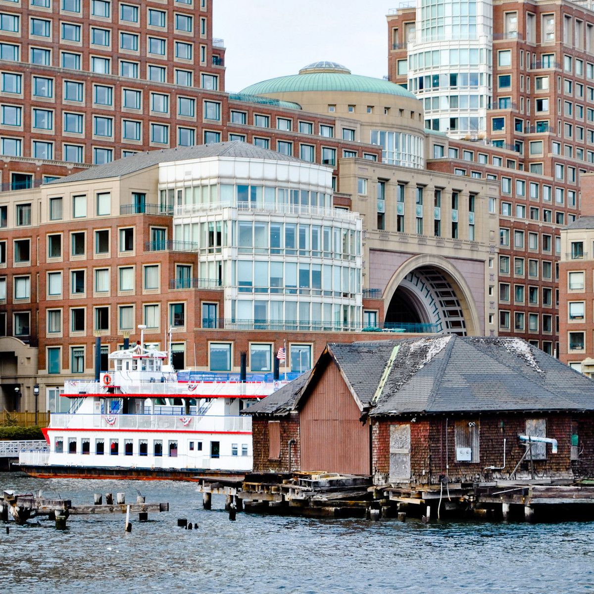
[[[268,457],[268,421],[280,421],[280,458]],[[289,440],[295,440],[291,445],[291,470],[301,468],[299,447],[299,416],[284,417],[253,417],[252,440],[254,451],[254,472],[289,472]]]

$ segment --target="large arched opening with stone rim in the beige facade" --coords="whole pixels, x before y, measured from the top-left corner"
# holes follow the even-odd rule
[[[440,256],[410,258],[384,290],[386,323],[432,324],[446,334],[482,334],[472,293],[459,270]]]

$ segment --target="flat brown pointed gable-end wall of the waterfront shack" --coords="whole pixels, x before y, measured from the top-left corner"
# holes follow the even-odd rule
[[[369,423],[330,362],[299,413],[301,470],[371,474]]]

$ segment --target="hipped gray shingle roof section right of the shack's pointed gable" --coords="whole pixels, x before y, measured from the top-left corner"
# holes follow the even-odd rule
[[[594,381],[524,340],[450,336],[427,346],[400,349],[373,415],[594,410]]]

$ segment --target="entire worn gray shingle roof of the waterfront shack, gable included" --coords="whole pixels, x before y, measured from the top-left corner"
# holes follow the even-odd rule
[[[374,416],[594,410],[594,381],[524,340],[455,335],[331,343],[307,384],[286,386],[292,399],[283,410],[299,409],[328,357],[359,406]]]

